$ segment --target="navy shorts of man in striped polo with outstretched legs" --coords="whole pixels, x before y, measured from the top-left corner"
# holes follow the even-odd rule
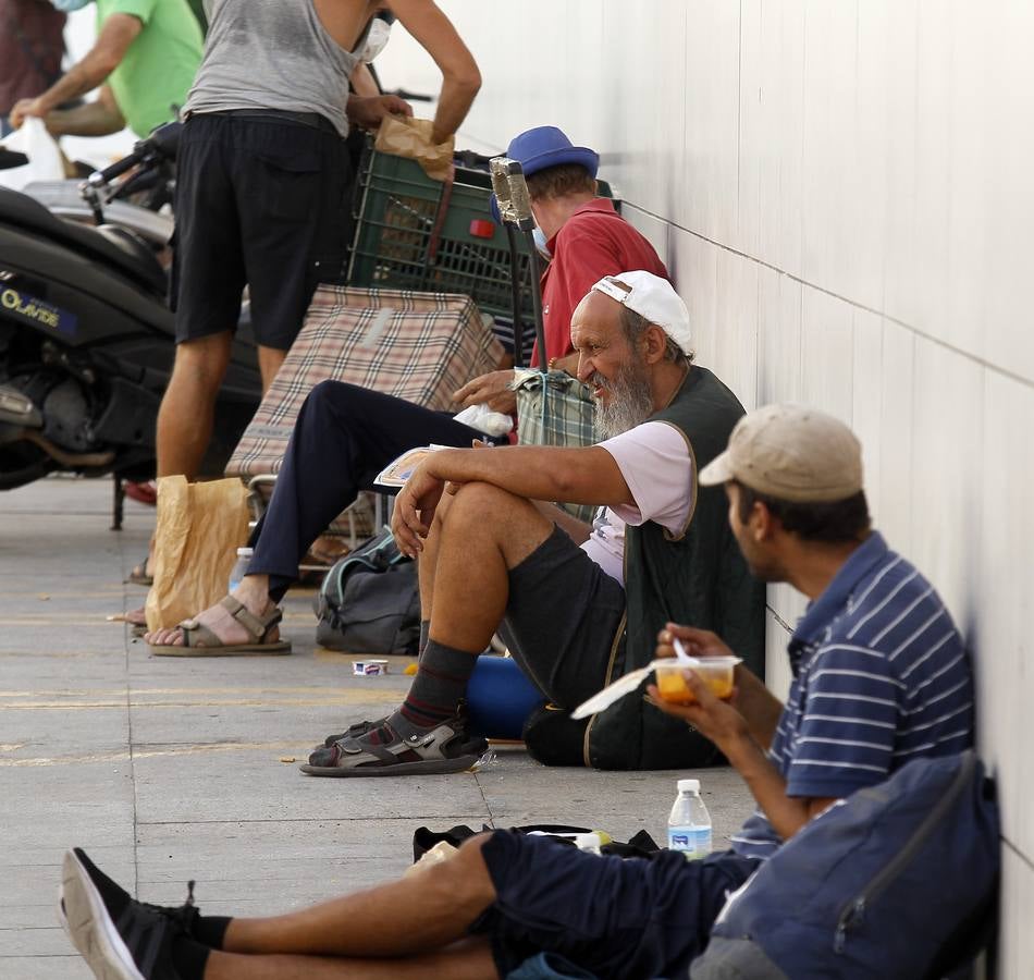
[[[545,951],[601,980],[685,977],[759,863],[730,850],[598,857],[514,831],[495,831],[481,856],[497,897],[470,931],[490,938],[500,976]]]

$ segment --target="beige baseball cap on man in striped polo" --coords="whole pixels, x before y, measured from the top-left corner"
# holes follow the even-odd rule
[[[846,500],[862,489],[862,446],[838,418],[807,405],[744,415],[729,445],[701,471],[705,487],[737,480],[795,503]]]

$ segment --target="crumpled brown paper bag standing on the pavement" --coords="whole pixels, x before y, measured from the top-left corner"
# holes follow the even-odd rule
[[[148,630],[175,626],[222,599],[247,539],[248,491],[241,480],[161,477],[155,584],[144,607]]]

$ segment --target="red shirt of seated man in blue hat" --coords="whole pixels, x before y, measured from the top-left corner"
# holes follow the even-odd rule
[[[653,246],[605,197],[582,205],[547,245],[553,258],[541,281],[546,359],[570,354],[571,314],[604,275],[644,269],[668,278]],[[538,353],[537,346],[532,366],[539,363]]]

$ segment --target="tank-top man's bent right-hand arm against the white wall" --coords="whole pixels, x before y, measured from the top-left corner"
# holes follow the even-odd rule
[[[481,88],[478,63],[448,17],[430,0],[391,0],[389,5],[442,73],[431,139],[444,143],[467,118]]]

